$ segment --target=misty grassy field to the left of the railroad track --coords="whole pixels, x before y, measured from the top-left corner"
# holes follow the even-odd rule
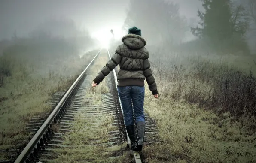
[[[36,115],[47,115],[46,104],[56,91],[66,91],[97,51],[82,59],[28,62],[19,57],[0,57],[0,150],[15,148],[30,135],[28,121]],[[1,153],[0,158],[5,158]]]

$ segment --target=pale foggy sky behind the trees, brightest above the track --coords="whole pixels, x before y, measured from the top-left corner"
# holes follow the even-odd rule
[[[145,2],[150,4],[151,1],[152,0],[148,0]],[[183,27],[196,26],[197,22],[199,21],[197,10],[200,9],[204,11],[204,8],[202,7],[202,1],[200,0],[165,1],[177,3],[179,6],[179,14],[186,17],[186,24],[183,24]],[[235,2],[234,4],[239,4],[242,2],[244,6],[247,7],[247,10],[250,8],[250,6],[247,6],[247,1],[250,0],[246,0],[246,2],[240,0],[233,1]],[[92,37],[100,39],[102,44],[106,44],[106,42],[111,39],[111,33],[109,32],[110,29],[114,30],[116,39],[120,39],[124,34],[127,33],[127,30],[123,30],[122,27],[125,23],[125,19],[127,18],[129,10],[128,0],[2,0],[0,4],[0,39],[10,39],[14,35],[18,37],[28,36],[31,31],[40,28],[44,21],[52,18],[65,18],[73,20],[79,30],[88,31]],[[143,6],[148,6],[148,4]],[[141,10],[143,9],[141,8]],[[143,13],[151,13],[153,15],[157,15],[158,11],[160,10],[154,8],[146,9],[143,10]],[[167,15],[164,15],[164,17],[165,16]],[[143,24],[147,24],[147,21],[149,21],[143,19],[143,15],[141,14],[137,16],[137,19]],[[157,24],[157,21],[155,21],[155,23]],[[138,26],[140,24],[136,23],[132,25]],[[47,30],[46,27],[41,28]],[[55,29],[51,29],[52,33],[55,33],[56,30],[63,30],[61,28],[64,27],[55,27]],[[151,33],[156,32],[154,31],[154,28],[150,27],[150,25],[147,25],[147,28]],[[172,28],[170,30],[172,30]],[[144,32],[148,31],[144,30]],[[176,31],[174,30],[174,32]],[[186,42],[196,38],[194,35],[192,35],[189,28],[183,32],[186,34],[175,36],[179,37],[176,39],[181,39],[182,42]],[[63,30],[62,35],[64,35],[64,33],[65,32]],[[253,33],[253,36],[254,35],[255,34]],[[255,39],[252,38],[253,36],[250,32],[248,32],[246,36],[248,37],[247,40],[249,41],[250,48],[252,49]],[[153,42],[151,38],[148,39],[149,42]],[[162,40],[162,38],[160,39]],[[157,38],[155,41],[159,42]],[[152,44],[154,43],[155,42]]]

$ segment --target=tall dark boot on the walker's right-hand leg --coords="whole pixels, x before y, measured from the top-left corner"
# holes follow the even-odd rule
[[[137,131],[138,131],[138,141],[134,148],[134,151],[141,151],[144,143],[144,136],[145,136],[145,122],[138,122],[137,123]]]

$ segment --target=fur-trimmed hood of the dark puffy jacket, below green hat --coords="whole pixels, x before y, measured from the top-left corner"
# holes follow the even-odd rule
[[[122,38],[122,42],[130,49],[139,49],[146,45],[146,39],[136,34],[128,34]]]

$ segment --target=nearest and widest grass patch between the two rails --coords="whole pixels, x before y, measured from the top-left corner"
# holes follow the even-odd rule
[[[98,113],[99,115],[100,113]],[[73,131],[64,136],[63,145],[73,145],[73,148],[57,149],[58,159],[54,163],[94,162],[118,163],[120,158],[110,158],[119,155],[123,145],[108,146],[108,132],[116,130],[111,116],[93,115],[82,119],[82,113],[76,116]]]

